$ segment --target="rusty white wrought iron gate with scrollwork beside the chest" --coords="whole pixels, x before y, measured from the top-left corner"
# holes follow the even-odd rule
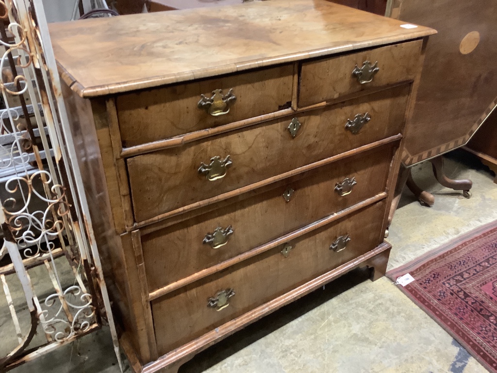
[[[0,372],[102,322],[119,361],[41,0],[0,0],[0,44]]]

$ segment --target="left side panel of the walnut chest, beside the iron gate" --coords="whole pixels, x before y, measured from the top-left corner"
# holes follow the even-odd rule
[[[129,341],[138,359],[153,359],[145,327],[141,291],[129,234],[116,234],[117,219],[122,220],[119,183],[112,161],[105,101],[79,97],[62,86],[75,152],[84,181],[93,233],[102,259],[109,297],[116,322],[129,333]],[[62,161],[61,167],[64,167]],[[117,218],[117,219],[116,219]]]

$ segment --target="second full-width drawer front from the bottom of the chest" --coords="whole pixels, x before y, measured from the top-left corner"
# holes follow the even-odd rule
[[[385,191],[393,150],[388,145],[320,167],[281,187],[143,235],[149,289],[157,290]]]

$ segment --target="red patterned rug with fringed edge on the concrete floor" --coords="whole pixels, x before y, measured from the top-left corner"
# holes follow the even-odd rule
[[[387,273],[484,367],[497,373],[497,221]]]

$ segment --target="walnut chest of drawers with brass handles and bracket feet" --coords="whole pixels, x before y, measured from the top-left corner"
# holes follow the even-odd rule
[[[384,275],[434,30],[270,0],[50,31],[135,371],[175,372],[356,267]]]

